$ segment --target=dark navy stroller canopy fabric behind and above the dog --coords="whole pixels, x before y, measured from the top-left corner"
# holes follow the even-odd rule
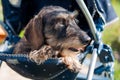
[[[94,0],[84,0],[91,15],[94,11]],[[110,22],[117,17],[110,0],[95,0],[99,12],[103,15],[106,22]],[[33,18],[44,6],[57,5],[69,11],[79,11],[79,25],[86,29],[86,19],[83,16],[78,4],[74,0],[22,0],[21,7],[16,8],[10,5],[8,0],[2,0],[4,20],[9,20],[10,24],[18,34],[31,18]],[[12,12],[12,13],[11,13]],[[88,28],[89,29],[89,28]]]

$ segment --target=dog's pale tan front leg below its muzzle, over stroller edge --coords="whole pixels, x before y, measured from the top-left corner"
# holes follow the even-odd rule
[[[80,63],[77,54],[80,52],[73,52],[69,49],[63,49],[60,53],[62,62],[67,65],[68,69],[79,72],[82,69],[82,64]]]

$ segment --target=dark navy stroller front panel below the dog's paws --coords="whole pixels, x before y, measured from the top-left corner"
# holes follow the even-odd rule
[[[41,65],[30,61],[8,65],[22,76],[34,80],[74,80],[78,74],[67,69],[58,59],[49,59]]]

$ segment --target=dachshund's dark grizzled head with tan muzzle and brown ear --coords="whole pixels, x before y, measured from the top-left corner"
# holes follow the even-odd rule
[[[82,49],[90,37],[75,22],[76,13],[58,6],[43,8],[27,25],[25,38],[34,49],[48,44],[54,48]]]

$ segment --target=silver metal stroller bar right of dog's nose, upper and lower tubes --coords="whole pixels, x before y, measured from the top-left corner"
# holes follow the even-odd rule
[[[88,22],[88,25],[90,27],[90,30],[92,32],[92,35],[93,35],[93,38],[94,38],[95,42],[99,43],[100,37],[98,36],[98,32],[97,32],[95,23],[93,21],[93,18],[91,16],[87,6],[85,5],[83,0],[76,0],[76,2],[78,3],[80,9],[84,13],[84,16],[85,16],[85,18],[86,18],[86,20]],[[96,60],[97,60],[97,48],[93,49],[91,63],[90,63],[89,71],[88,71],[88,74],[87,74],[87,80],[92,80]]]

